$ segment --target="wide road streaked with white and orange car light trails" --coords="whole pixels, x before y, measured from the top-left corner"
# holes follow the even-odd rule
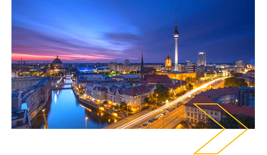
[[[219,79],[215,79],[215,80],[217,81],[217,80],[224,79],[224,78],[227,78],[227,77],[223,77],[223,78],[219,78]],[[174,101],[171,101],[170,103],[166,103],[165,105],[163,105],[162,107],[159,107],[158,109],[156,109],[154,111],[146,113],[146,114],[139,116],[133,120],[127,121],[126,123],[117,126],[115,129],[133,129],[133,128],[137,128],[139,126],[142,126],[142,124],[147,122],[149,119],[152,119],[152,118],[156,117],[157,115],[161,114],[162,111],[165,111],[165,109],[167,109],[168,107],[173,106],[174,104],[178,103],[179,101],[181,101],[183,99],[186,99],[188,97],[188,95],[192,95],[195,92],[197,92],[198,90],[200,90],[202,88],[206,88],[210,84],[214,83],[215,80],[210,81],[206,84],[203,84],[202,86],[198,87],[197,89],[194,89],[194,90],[188,92],[187,94],[183,95],[182,97],[180,97]],[[182,116],[182,114],[183,114],[182,108],[183,108],[183,106],[180,106],[178,109],[176,109],[176,110],[174,110],[174,111],[172,111],[169,114],[164,116],[164,120],[166,119],[166,126],[168,125],[168,123],[170,124],[173,120]],[[149,126],[144,127],[144,128],[149,128],[149,129],[161,128],[162,129],[162,124],[160,123],[160,122],[162,122],[162,119],[163,118],[161,117],[161,119],[157,120],[156,122],[153,122],[152,124],[150,124]],[[165,125],[165,123],[164,123],[164,125]]]

